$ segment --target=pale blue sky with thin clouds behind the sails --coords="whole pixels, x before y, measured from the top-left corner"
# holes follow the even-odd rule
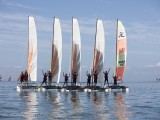
[[[53,18],[61,22],[63,35],[62,71],[70,69],[72,17],[79,21],[82,40],[82,79],[90,69],[96,20],[105,29],[105,67],[115,66],[116,21],[127,35],[127,69],[124,82],[154,81],[160,77],[159,0],[0,0],[0,74],[17,79],[27,69],[28,16],[34,16],[38,35],[38,81],[50,69]],[[63,81],[63,78],[61,78]]]

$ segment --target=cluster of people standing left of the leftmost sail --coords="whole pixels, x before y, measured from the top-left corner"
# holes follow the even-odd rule
[[[27,86],[28,85],[28,72],[27,70],[25,70],[25,72],[21,72],[18,80],[20,81],[21,85],[25,85]]]

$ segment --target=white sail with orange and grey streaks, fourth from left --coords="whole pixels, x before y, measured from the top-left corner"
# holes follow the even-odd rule
[[[94,46],[93,72],[98,73],[98,82],[103,80],[105,35],[102,20],[97,20]]]

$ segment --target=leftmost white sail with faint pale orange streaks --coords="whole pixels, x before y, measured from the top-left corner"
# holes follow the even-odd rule
[[[28,76],[37,81],[37,32],[34,17],[29,16]]]

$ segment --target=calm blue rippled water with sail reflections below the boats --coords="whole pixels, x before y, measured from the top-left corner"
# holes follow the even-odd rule
[[[123,92],[16,91],[0,82],[0,119],[4,120],[159,120],[160,82],[127,83]]]

